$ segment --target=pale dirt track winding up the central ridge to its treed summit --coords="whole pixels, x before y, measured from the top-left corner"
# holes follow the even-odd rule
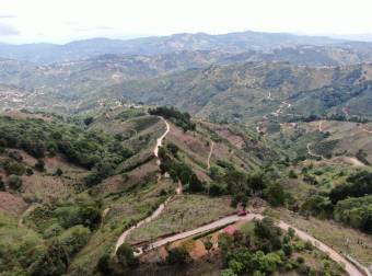
[[[160,117],[160,116],[159,116],[159,117]],[[170,129],[171,129],[171,128],[170,128],[170,124],[168,124],[163,117],[160,117],[160,118],[165,123],[166,129],[165,129],[164,134],[163,134],[161,137],[158,138],[155,148],[154,148],[154,150],[153,150],[154,156],[158,158],[158,161],[156,161],[158,165],[161,164],[161,161],[160,161],[159,156],[158,156],[158,153],[159,153],[159,147],[161,147],[161,146],[163,145],[163,140],[164,140],[165,136],[168,134],[168,131],[170,131]],[[160,177],[159,177],[159,179],[160,179]],[[181,194],[181,193],[182,193],[182,184],[181,184],[181,182],[178,182],[178,186],[177,186],[177,188],[176,188],[176,194],[178,195],[178,194]],[[149,217],[147,217],[146,219],[139,221],[137,225],[132,226],[131,228],[125,230],[125,231],[120,234],[119,239],[118,239],[117,242],[116,242],[115,252],[114,252],[114,253],[116,253],[117,249],[125,242],[125,240],[127,239],[127,237],[129,235],[129,233],[130,233],[131,231],[133,231],[135,229],[141,227],[142,225],[148,223],[148,222],[152,221],[153,219],[158,218],[159,215],[162,214],[162,211],[164,210],[165,206],[170,203],[170,200],[171,200],[172,198],[173,198],[173,196],[168,197],[164,203],[162,203],[162,204],[161,204],[161,205],[160,205],[160,206],[151,214],[151,216],[149,216]]]

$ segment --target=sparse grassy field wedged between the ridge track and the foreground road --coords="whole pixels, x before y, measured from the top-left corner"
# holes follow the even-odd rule
[[[228,198],[182,195],[170,203],[159,218],[131,232],[128,241],[133,243],[153,240],[206,225],[233,212],[229,203]]]

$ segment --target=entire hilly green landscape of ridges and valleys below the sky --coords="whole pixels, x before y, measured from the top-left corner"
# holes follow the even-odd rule
[[[0,57],[1,275],[371,275],[370,43],[198,33]]]

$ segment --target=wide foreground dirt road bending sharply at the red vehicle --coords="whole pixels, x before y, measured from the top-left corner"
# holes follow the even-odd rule
[[[163,246],[163,245],[165,245],[167,243],[175,242],[175,241],[178,241],[178,240],[183,240],[183,239],[189,238],[189,237],[195,235],[195,234],[200,234],[200,233],[204,233],[204,232],[208,232],[208,231],[211,231],[213,229],[217,229],[217,228],[220,228],[220,227],[224,227],[224,226],[237,222],[237,221],[252,221],[252,220],[255,220],[255,219],[261,220],[264,217],[261,215],[259,215],[259,214],[248,214],[245,217],[239,217],[236,215],[224,217],[224,218],[216,220],[216,221],[213,221],[213,222],[211,222],[209,225],[206,225],[206,226],[202,226],[202,227],[199,227],[199,228],[196,228],[196,229],[183,232],[183,233],[177,233],[175,235],[167,237],[165,239],[162,239],[162,240],[159,240],[156,242],[153,242],[153,243],[151,243],[147,248],[147,250],[152,250],[152,249],[161,248],[161,246]],[[318,250],[321,250],[324,253],[328,254],[332,260],[334,260],[337,263],[345,264],[345,271],[349,275],[352,275],[352,276],[363,276],[363,274],[351,262],[349,262],[341,254],[339,254],[335,250],[330,249],[328,245],[324,244],[323,242],[318,241],[314,237],[312,237],[312,235],[307,234],[306,232],[304,232],[302,230],[299,230],[299,229],[297,229],[297,228],[294,228],[294,227],[292,227],[292,226],[290,226],[290,225],[288,225],[288,223],[286,223],[283,221],[279,221],[277,223],[277,226],[280,229],[284,230],[284,231],[288,231],[289,228],[294,229],[297,235],[301,240],[312,242],[312,244],[315,248],[317,248]],[[139,248],[138,251],[142,252],[142,248]]]

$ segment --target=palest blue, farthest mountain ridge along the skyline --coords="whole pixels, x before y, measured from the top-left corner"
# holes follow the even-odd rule
[[[136,39],[93,38],[77,41],[65,45],[55,44],[0,44],[0,57],[51,64],[86,59],[104,54],[117,55],[161,55],[182,50],[221,50],[241,53],[247,50],[267,51],[283,47],[337,46],[350,48],[371,46],[369,43],[348,42],[323,36],[304,36],[287,33],[242,32],[221,35],[206,33],[175,34],[171,36],[144,37]]]

